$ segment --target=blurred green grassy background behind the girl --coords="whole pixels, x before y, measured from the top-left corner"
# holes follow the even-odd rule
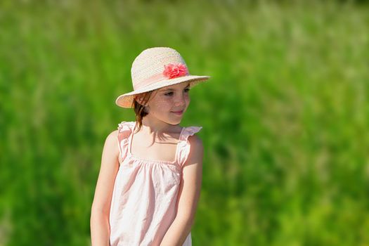
[[[134,58],[176,48],[202,126],[193,245],[369,245],[365,1],[0,1],[0,245],[89,245]]]

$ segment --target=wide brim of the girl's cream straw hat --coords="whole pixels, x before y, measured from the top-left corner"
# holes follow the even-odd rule
[[[192,88],[196,84],[205,82],[207,79],[209,79],[209,76],[188,75],[188,76],[178,77],[175,79],[162,80],[155,84],[150,84],[149,86],[146,86],[142,89],[131,91],[129,93],[125,93],[125,94],[118,96],[117,99],[115,100],[115,104],[122,108],[133,108],[134,96],[136,96],[137,94],[148,92],[148,91],[153,91],[155,89],[160,89],[165,86],[171,86],[173,84],[180,84],[183,82],[190,82],[190,88]]]

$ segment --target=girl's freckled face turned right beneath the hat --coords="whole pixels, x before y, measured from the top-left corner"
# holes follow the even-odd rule
[[[190,82],[183,82],[157,89],[148,101],[149,117],[168,124],[179,124],[190,103]]]

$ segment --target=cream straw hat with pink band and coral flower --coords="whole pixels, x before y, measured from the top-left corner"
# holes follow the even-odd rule
[[[134,96],[165,86],[190,82],[190,88],[205,82],[209,76],[190,75],[181,55],[173,48],[155,47],[142,51],[131,67],[134,91],[117,97],[115,103],[122,108],[133,108]]]

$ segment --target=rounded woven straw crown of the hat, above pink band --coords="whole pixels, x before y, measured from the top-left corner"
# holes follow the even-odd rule
[[[147,79],[162,75],[164,66],[169,64],[186,65],[178,51],[169,47],[148,48],[142,51],[134,60],[131,67],[131,78],[134,89]]]

